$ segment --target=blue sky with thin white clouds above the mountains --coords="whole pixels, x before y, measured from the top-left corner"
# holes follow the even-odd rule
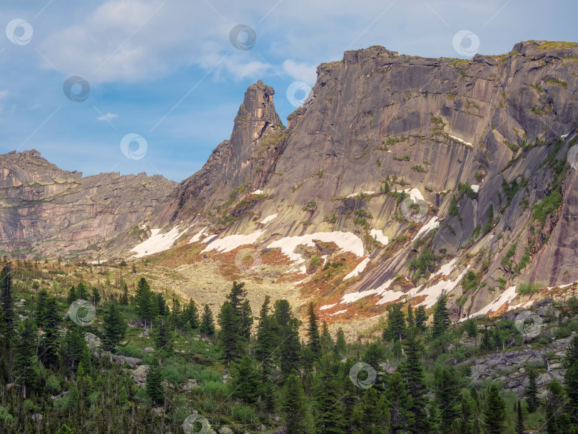
[[[578,41],[577,13],[574,0],[4,0],[0,153],[35,148],[84,175],[181,181],[229,138],[257,80],[273,86],[286,123],[287,90],[307,91],[315,67],[345,50],[502,54],[529,39]],[[231,35],[240,24],[248,30]],[[69,96],[84,101],[66,97],[71,76],[83,81],[69,81]]]

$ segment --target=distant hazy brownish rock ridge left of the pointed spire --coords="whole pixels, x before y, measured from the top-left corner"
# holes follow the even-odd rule
[[[37,151],[0,156],[0,243],[3,254],[77,256],[113,252],[118,237],[138,243],[137,223],[176,183],[163,176],[62,171]],[[141,236],[145,236],[144,231]]]

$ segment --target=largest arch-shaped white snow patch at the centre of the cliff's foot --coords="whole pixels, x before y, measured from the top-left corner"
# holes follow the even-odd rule
[[[358,236],[351,232],[315,232],[302,236],[286,236],[279,240],[273,241],[268,248],[280,248],[283,254],[288,256],[295,263],[303,263],[305,259],[299,253],[295,253],[295,248],[300,244],[313,247],[313,240],[323,241],[324,243],[335,243],[343,251],[353,253],[355,256],[363,256],[363,242]]]

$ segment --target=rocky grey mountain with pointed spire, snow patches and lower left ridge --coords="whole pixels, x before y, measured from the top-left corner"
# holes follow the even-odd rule
[[[76,198],[113,175],[68,174],[58,187],[78,196],[43,186],[66,213],[47,218],[56,205],[42,199],[35,238],[22,216],[36,208],[4,188],[4,250],[111,261],[163,252],[148,258],[181,273],[180,291],[203,302],[216,305],[238,278],[254,303],[265,293],[313,298],[328,322],[350,324],[371,325],[392,301],[431,308],[442,291],[454,319],[562,297],[578,281],[577,66],[578,44],[563,42],[471,60],[346,51],[318,66],[287,128],[259,81],[201,171],[176,186],[118,181],[119,195],[138,196],[128,213],[101,191],[91,202],[106,211],[93,224]],[[1,166],[25,154],[1,156]],[[45,170],[19,167],[31,179]],[[140,196],[124,188],[138,182]],[[66,245],[56,241],[62,221],[75,240]],[[34,247],[47,233],[47,247]]]

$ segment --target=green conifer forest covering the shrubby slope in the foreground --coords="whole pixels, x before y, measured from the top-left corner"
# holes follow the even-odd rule
[[[252,308],[242,282],[213,315],[126,263],[2,266],[1,433],[578,433],[578,337],[563,381],[539,388],[549,366],[527,365],[522,396],[476,382],[467,359],[543,337],[500,317],[452,324],[443,293],[391,303],[348,342],[314,303]],[[570,298],[547,327],[572,337],[577,314]]]

